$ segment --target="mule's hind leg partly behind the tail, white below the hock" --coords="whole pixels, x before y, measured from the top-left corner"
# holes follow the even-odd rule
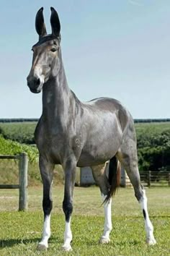
[[[106,176],[104,165],[91,166],[92,174],[95,182],[99,185],[102,195],[102,202],[106,199],[109,192],[109,182]],[[104,203],[104,231],[99,239],[99,243],[106,244],[110,242],[109,234],[112,231],[112,215],[111,215],[112,198]]]

